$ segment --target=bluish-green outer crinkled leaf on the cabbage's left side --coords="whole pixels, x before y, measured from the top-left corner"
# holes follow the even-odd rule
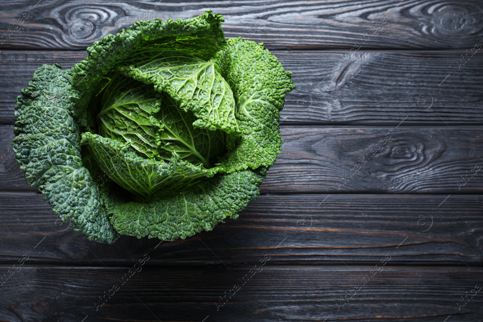
[[[70,70],[38,68],[15,105],[13,147],[25,180],[44,194],[63,223],[88,239],[114,242],[119,236],[89,171],[82,166],[79,128],[71,116],[78,95]]]

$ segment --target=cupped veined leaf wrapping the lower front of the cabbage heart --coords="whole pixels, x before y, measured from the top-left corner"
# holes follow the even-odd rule
[[[129,143],[103,138],[98,134],[82,133],[81,144],[87,146],[102,171],[124,189],[152,201],[183,189],[201,178],[213,177],[223,168],[205,169],[181,160],[173,153],[170,162],[145,159],[129,147]]]

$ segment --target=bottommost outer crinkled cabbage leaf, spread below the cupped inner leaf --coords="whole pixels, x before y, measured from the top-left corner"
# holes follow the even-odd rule
[[[207,182],[149,204],[108,204],[111,222],[121,234],[173,241],[212,230],[226,217],[238,218],[259,195],[264,177],[250,170],[216,176]]]

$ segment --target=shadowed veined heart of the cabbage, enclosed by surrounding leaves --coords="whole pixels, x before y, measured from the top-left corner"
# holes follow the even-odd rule
[[[106,77],[97,97],[99,133],[128,142],[141,156],[169,161],[172,152],[198,166],[212,168],[225,152],[225,133],[194,127],[197,118],[166,93],[117,73]]]

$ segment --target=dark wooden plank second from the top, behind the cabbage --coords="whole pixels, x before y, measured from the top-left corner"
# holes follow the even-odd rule
[[[481,52],[461,66],[464,50],[360,51],[350,58],[343,51],[273,53],[297,85],[286,97],[284,124],[398,125],[406,116],[405,124],[483,123]],[[0,93],[0,124],[13,124],[15,98],[36,68],[54,63],[70,68],[85,56],[85,51],[1,51],[0,74],[9,81]]]

